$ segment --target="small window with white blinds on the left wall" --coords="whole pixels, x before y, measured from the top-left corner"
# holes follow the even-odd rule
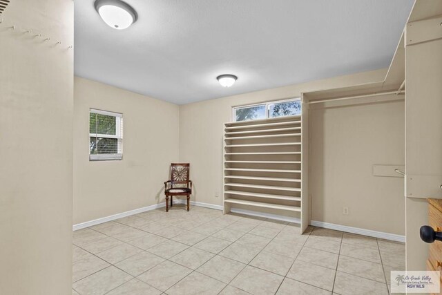
[[[123,115],[90,109],[89,160],[122,160]]]

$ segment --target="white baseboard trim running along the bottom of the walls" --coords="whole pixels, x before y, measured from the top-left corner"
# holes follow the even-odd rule
[[[186,200],[174,200],[173,204],[186,204]],[[203,202],[191,201],[191,205],[215,209],[215,210],[222,210],[223,209],[222,205],[215,205],[215,204],[209,204],[209,203],[203,203]],[[138,208],[138,209],[122,212],[122,213],[113,214],[111,216],[106,216],[103,218],[97,218],[95,220],[81,222],[81,223],[78,223],[77,225],[73,225],[73,231],[77,231],[79,229],[84,229],[86,227],[92,227],[93,225],[99,225],[101,223],[112,221],[112,220],[119,219],[119,218],[123,218],[126,216],[131,216],[131,215],[143,213],[146,211],[160,209],[162,207],[166,207],[166,204],[164,202],[162,202],[161,204],[153,204],[151,206],[142,207],[142,208]],[[233,213],[240,213],[240,214],[249,215],[249,216],[258,216],[258,217],[263,217],[263,218],[270,218],[270,219],[275,219],[275,220],[300,223],[299,218],[294,218],[294,217],[289,217],[289,216],[282,216],[282,215],[277,215],[277,214],[263,213],[263,212],[258,212],[258,211],[251,211],[251,210],[246,210],[246,209],[235,209],[235,208],[232,208],[231,211]],[[317,221],[317,220],[311,220],[310,225],[312,225],[314,227],[323,227],[325,229],[334,229],[336,231],[345,231],[345,232],[351,233],[351,234],[360,234],[363,236],[372,236],[374,238],[383,238],[385,240],[394,240],[396,242],[405,242],[405,236],[384,233],[382,231],[372,231],[371,229],[360,229],[358,227],[347,227],[346,225],[336,225],[334,223]]]

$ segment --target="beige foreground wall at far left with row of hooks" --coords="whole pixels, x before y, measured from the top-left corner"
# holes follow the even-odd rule
[[[1,18],[0,293],[70,294],[73,1],[10,1]]]

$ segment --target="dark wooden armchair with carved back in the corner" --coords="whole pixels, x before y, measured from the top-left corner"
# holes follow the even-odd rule
[[[192,180],[189,180],[189,176],[189,163],[171,164],[171,178],[170,180],[164,182],[164,194],[166,195],[166,212],[169,211],[169,197],[171,197],[171,207],[173,206],[173,196],[186,196],[187,211],[189,211],[190,199],[192,194]]]

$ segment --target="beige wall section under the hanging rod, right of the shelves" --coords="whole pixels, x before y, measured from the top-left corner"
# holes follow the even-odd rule
[[[311,220],[405,234],[403,178],[373,175],[404,164],[404,101],[389,98],[400,100],[310,109]]]

